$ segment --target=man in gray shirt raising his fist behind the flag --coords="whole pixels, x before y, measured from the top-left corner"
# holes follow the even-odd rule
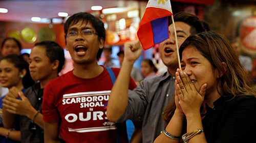
[[[160,56],[167,72],[159,76],[148,77],[138,87],[129,91],[130,73],[134,62],[139,58],[142,48],[140,42],[124,45],[124,60],[112,88],[107,117],[110,121],[122,122],[131,119],[142,122],[142,141],[153,142],[161,133],[164,125],[162,112],[164,107],[174,101],[175,72],[178,68],[176,42],[180,46],[190,35],[209,31],[209,25],[197,16],[185,12],[174,15],[177,40],[173,23],[169,25],[169,38],[160,43]]]

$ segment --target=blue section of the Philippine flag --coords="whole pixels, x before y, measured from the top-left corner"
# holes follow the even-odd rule
[[[155,44],[160,43],[168,38],[167,24],[167,17],[162,17],[151,21]]]

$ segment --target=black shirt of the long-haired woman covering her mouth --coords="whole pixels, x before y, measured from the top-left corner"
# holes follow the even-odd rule
[[[206,108],[202,120],[208,143],[254,142],[256,134],[256,98],[240,96],[232,100],[220,97],[214,109]]]

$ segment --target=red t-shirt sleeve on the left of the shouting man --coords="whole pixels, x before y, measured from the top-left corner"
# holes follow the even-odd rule
[[[56,100],[53,90],[53,84],[50,81],[44,89],[44,98],[42,100],[42,116],[45,122],[59,120],[59,113],[56,109]]]

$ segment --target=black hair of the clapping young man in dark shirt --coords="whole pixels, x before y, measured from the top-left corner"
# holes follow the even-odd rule
[[[53,63],[55,60],[59,61],[58,73],[62,70],[65,63],[65,55],[62,47],[53,41],[42,41],[36,43],[35,46],[42,46],[46,49],[46,56],[49,58],[50,62]]]

